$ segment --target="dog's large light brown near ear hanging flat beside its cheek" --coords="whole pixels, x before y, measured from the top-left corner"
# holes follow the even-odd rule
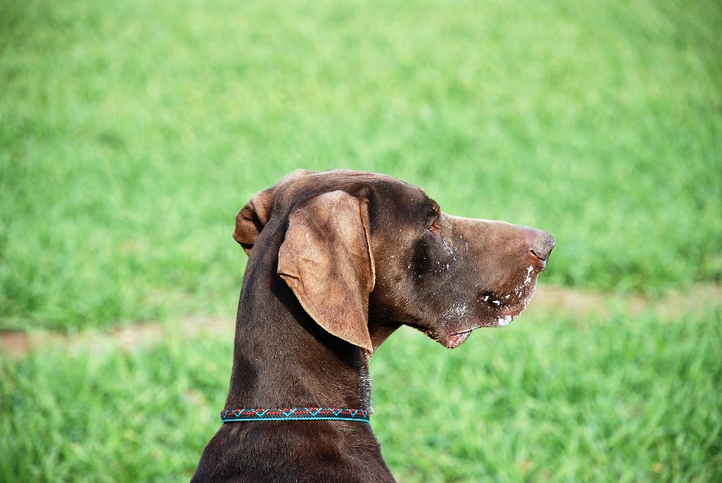
[[[290,214],[278,274],[334,336],[373,352],[368,297],[375,284],[368,201],[332,191]]]

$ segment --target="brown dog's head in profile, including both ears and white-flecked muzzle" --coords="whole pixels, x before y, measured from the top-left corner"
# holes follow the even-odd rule
[[[400,324],[454,348],[510,323],[554,247],[547,232],[454,217],[416,186],[348,170],[297,170],[253,196],[234,232],[251,261],[271,220],[279,277],[316,323],[368,352]]]

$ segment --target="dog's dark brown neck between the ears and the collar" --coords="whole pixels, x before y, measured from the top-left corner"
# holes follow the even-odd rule
[[[269,227],[261,236],[270,243],[256,243],[243,277],[225,409],[371,409],[364,351],[332,336],[305,313],[277,275],[282,232],[270,233]]]

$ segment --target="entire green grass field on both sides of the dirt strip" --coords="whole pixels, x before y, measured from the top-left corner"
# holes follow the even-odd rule
[[[232,319],[233,217],[297,167],[549,230],[542,282],[718,284],[719,32],[718,1],[4,0],[0,329]],[[719,481],[719,306],[699,309],[522,318],[452,353],[398,334],[372,364],[384,455],[401,481]],[[0,357],[0,478],[187,479],[231,338]],[[419,425],[406,381],[409,412],[482,412]]]

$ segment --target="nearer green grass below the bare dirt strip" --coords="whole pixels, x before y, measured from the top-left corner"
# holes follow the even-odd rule
[[[371,363],[373,428],[401,482],[720,481],[721,327],[719,310],[521,318],[452,352],[402,330]],[[0,481],[187,481],[231,340],[0,359]]]

